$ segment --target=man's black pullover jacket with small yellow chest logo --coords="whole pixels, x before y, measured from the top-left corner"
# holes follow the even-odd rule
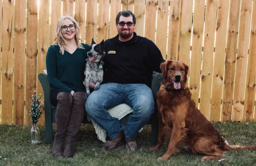
[[[143,83],[151,88],[152,72],[161,73],[165,60],[153,41],[137,36],[126,42],[119,35],[105,41],[103,83]]]

